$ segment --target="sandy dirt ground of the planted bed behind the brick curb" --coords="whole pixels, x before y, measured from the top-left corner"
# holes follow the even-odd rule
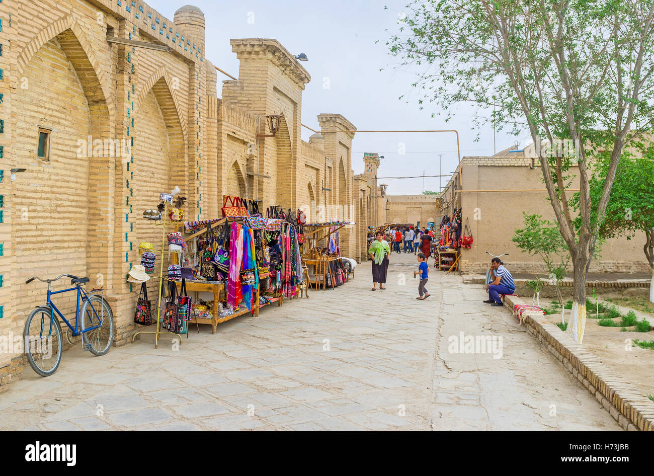
[[[648,290],[638,290],[649,296]],[[635,289],[625,292],[614,292],[600,296],[601,299],[611,297],[640,296]],[[590,297],[593,300],[592,296]],[[545,299],[550,303],[551,299]],[[541,305],[545,306],[541,300]],[[624,306],[623,306],[624,307]],[[589,313],[591,311],[589,310]],[[566,309],[566,320],[570,310]],[[560,322],[559,315],[548,315],[550,322]],[[619,322],[619,319],[615,319]],[[654,322],[654,319],[649,319]],[[619,327],[602,327],[598,325],[598,319],[588,318],[586,322],[586,331],[583,337],[583,345],[588,350],[598,356],[603,364],[611,369],[615,369],[623,379],[634,384],[638,392],[644,396],[647,394],[654,395],[654,350],[641,349],[638,346],[632,346],[631,342],[635,339],[640,341],[651,341],[654,339],[654,331],[649,332],[621,332]]]

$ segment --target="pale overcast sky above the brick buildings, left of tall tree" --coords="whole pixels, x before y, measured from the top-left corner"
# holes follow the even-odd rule
[[[277,39],[292,54],[307,55],[309,61],[301,65],[311,75],[311,82],[303,92],[301,118],[303,124],[313,129],[318,129],[318,114],[332,113],[343,114],[357,129],[456,129],[462,157],[492,155],[494,141],[497,151],[513,146],[516,140],[525,145],[520,137],[503,132],[494,137],[490,126],[472,130],[476,111],[470,105],[456,107],[453,119],[447,123],[438,114],[432,118],[432,112],[438,110],[429,109],[430,105],[419,109],[417,101],[421,96],[411,88],[411,83],[421,71],[413,67],[398,69],[398,59],[388,54],[385,44],[398,29],[397,21],[406,1],[194,0],[192,5],[205,15],[207,58],[232,76],[238,76],[239,61],[232,52],[230,39]],[[185,5],[173,0],[148,3],[169,19]],[[220,81],[222,75],[218,76]],[[399,99],[401,95],[407,99]],[[312,132],[302,129],[302,139],[308,141]],[[477,132],[479,141],[475,142]],[[384,156],[377,175],[379,183],[388,184],[390,195],[438,190],[448,178],[423,179],[423,173],[449,174],[458,163],[454,133],[357,133],[352,152],[355,174],[363,172],[364,152]],[[421,177],[384,179],[407,176]]]

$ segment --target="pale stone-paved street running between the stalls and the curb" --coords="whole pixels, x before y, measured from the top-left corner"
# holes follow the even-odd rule
[[[103,357],[65,352],[52,377],[26,366],[0,396],[0,429],[620,430],[482,286],[432,269],[417,301],[414,269],[393,254],[387,290],[371,292],[361,264],[337,290],[216,335],[192,325],[179,350],[146,335]],[[502,337],[501,358],[450,352],[461,332]]]

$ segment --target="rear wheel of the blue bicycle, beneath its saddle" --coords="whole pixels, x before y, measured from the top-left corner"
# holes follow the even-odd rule
[[[84,332],[84,329],[95,326],[98,327]],[[91,345],[92,354],[100,356],[109,352],[114,340],[114,315],[109,303],[101,296],[90,296],[88,301],[84,302],[80,313],[80,332],[84,344]]]

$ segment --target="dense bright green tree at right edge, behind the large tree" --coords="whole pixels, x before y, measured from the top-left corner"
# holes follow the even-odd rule
[[[601,161],[591,177],[591,200],[602,194],[602,186],[609,167]],[[576,205],[576,203],[575,203]],[[596,216],[592,221],[596,223]],[[578,222],[578,220],[577,220]],[[600,226],[603,239],[624,236],[632,239],[636,231],[645,232],[645,257],[652,270],[649,300],[654,303],[654,150],[650,148],[642,158],[623,154],[615,173],[611,200]]]

